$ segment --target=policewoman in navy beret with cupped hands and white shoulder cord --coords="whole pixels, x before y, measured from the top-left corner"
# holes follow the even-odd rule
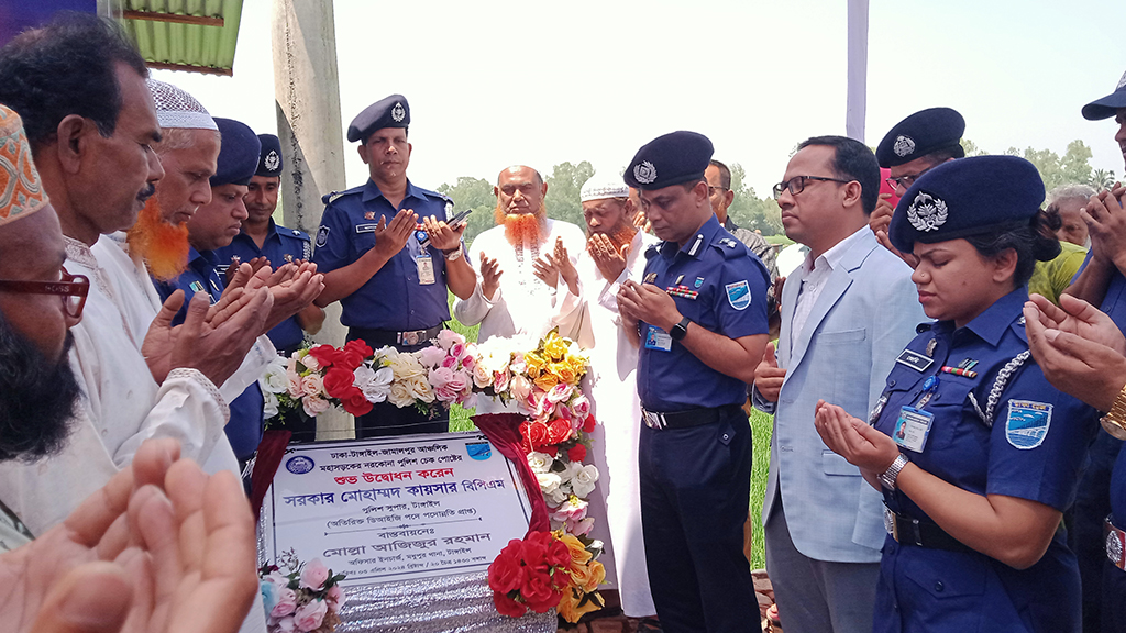
[[[890,536],[875,631],[1079,631],[1079,573],[1061,529],[1094,410],[1029,359],[1021,315],[1044,235],[1044,185],[1016,157],[953,161],[892,220],[919,258],[932,324],[896,359],[872,420],[819,403],[825,444],[881,488]]]

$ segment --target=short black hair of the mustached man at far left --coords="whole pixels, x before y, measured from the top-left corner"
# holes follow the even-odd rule
[[[24,119],[33,149],[51,141],[59,123],[75,114],[111,136],[123,105],[118,63],[149,77],[144,59],[117,23],[63,11],[0,48],[0,102]]]

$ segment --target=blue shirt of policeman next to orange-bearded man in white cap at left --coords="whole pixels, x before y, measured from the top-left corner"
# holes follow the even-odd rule
[[[223,278],[215,270],[217,258],[215,251],[198,252],[195,248],[188,249],[188,269],[171,282],[153,279],[157,292],[161,300],[166,300],[176,292],[177,288],[184,291],[184,306],[172,319],[172,326],[179,326],[187,315],[188,301],[197,292],[205,292],[211,296],[211,302],[215,303],[223,294]],[[231,407],[231,421],[224,430],[226,438],[231,442],[231,448],[239,460],[248,460],[258,449],[258,444],[262,440],[262,391],[258,382],[251,383],[234,401],[227,403]]]

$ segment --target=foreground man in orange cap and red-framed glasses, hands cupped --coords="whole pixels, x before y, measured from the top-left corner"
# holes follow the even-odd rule
[[[62,268],[59,219],[30,154],[19,115],[0,105],[0,462],[51,457],[80,410],[68,330],[90,283]],[[175,440],[145,443],[64,525],[32,543],[0,505],[6,631],[117,632],[126,617],[127,631],[163,631],[188,610],[193,631],[238,628],[257,588],[247,502],[233,476],[209,479],[178,456]],[[117,521],[123,540],[110,526],[127,506],[135,520]],[[166,555],[169,544],[186,555]]]

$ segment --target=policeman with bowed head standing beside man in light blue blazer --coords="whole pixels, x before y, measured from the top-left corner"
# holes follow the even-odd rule
[[[625,180],[663,240],[618,293],[637,336],[642,525],[661,627],[758,630],[747,559],[751,430],[741,404],[767,344],[769,274],[712,212],[712,142],[660,136]]]

